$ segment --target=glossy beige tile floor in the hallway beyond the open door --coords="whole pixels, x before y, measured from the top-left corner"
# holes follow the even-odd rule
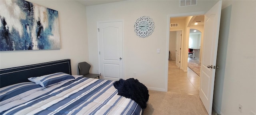
[[[190,68],[188,72],[182,71],[175,65],[175,60],[169,61],[168,91],[199,95],[200,77]]]

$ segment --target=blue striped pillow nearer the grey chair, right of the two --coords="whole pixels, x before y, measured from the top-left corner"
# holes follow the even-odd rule
[[[69,75],[67,73],[53,73],[49,75],[43,75],[40,77],[30,77],[28,78],[29,81],[32,81],[36,84],[41,85],[42,87],[47,87],[50,85],[62,83],[68,79],[75,79],[72,75]]]

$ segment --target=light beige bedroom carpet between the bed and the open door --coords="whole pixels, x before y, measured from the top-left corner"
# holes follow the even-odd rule
[[[144,115],[208,115],[198,95],[149,91]]]

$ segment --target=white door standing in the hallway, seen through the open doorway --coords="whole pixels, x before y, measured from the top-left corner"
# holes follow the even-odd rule
[[[176,66],[180,68],[181,31],[176,31]]]

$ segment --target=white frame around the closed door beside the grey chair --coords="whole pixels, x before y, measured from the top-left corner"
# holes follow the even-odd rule
[[[124,79],[124,73],[125,73],[125,69],[124,69],[124,64],[125,64],[125,56],[124,56],[124,19],[120,19],[120,20],[104,20],[104,21],[97,21],[97,29],[99,28],[99,24],[100,23],[106,23],[106,22],[122,22],[122,25],[123,25],[123,36],[122,36],[122,38],[123,38],[123,50],[122,50],[122,52],[123,52],[123,56],[122,56],[122,62],[123,62],[123,78],[122,79]],[[97,30],[98,31],[98,30]],[[98,38],[98,53],[100,52],[100,35],[99,35],[100,33],[99,32],[97,32],[97,38]],[[98,55],[98,66],[99,66],[99,73],[101,73],[101,70],[100,70],[100,55]]]

